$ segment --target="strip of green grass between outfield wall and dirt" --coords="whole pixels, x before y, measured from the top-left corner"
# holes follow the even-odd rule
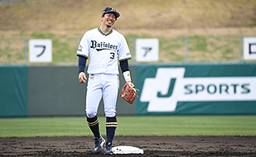
[[[105,136],[105,118],[99,117]],[[0,119],[0,136],[92,136],[85,117]],[[118,117],[116,136],[256,136],[255,116]]]

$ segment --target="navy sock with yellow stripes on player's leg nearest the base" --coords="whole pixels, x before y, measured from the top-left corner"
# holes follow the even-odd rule
[[[117,117],[106,117],[107,145],[112,144],[117,126]]]

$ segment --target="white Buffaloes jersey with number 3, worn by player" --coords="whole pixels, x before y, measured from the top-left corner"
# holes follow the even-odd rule
[[[85,33],[77,55],[89,58],[88,74],[118,74],[118,60],[132,58],[122,34],[112,29],[104,35],[99,27]]]

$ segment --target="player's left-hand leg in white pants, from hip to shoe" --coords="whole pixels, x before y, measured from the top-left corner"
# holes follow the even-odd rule
[[[94,152],[101,150],[104,145],[104,138],[99,133],[99,118],[97,117],[100,99],[102,98],[100,78],[98,75],[89,76],[86,93],[86,117],[90,130],[94,134]]]

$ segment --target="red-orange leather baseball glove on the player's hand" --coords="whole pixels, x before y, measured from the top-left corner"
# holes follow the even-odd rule
[[[123,91],[121,97],[128,103],[132,104],[136,98],[138,89],[135,88],[133,83],[125,83],[123,86]]]

